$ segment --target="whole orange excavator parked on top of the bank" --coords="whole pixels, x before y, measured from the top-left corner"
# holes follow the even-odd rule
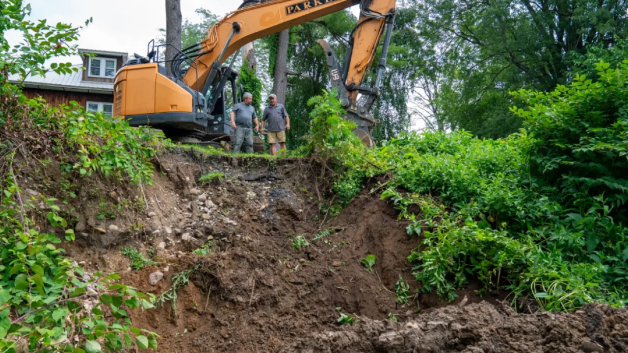
[[[354,121],[354,133],[368,146],[377,121],[371,107],[379,97],[379,84],[393,32],[396,0],[247,0],[207,31],[200,43],[183,50],[171,45],[148,45],[148,55],[129,60],[116,73],[114,116],[131,126],[151,126],[183,143],[217,143],[232,134],[229,109],[239,102],[242,89],[232,68],[242,46],[327,14],[360,6],[344,63],[325,40],[332,86],[338,89],[345,119]],[[377,47],[384,40],[376,81],[363,84]],[[175,48],[170,62],[160,60],[160,48]],[[225,61],[232,57],[229,65]],[[164,65],[170,65],[171,75]]]

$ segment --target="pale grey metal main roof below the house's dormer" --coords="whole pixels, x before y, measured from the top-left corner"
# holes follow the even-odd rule
[[[82,67],[82,65],[75,65]],[[19,76],[9,77],[12,83],[19,83]],[[78,72],[59,75],[55,72],[48,72],[46,76],[29,76],[24,80],[24,87],[35,89],[67,90],[73,92],[91,92],[100,94],[113,94],[114,84],[110,82],[94,82],[83,80],[83,70]]]

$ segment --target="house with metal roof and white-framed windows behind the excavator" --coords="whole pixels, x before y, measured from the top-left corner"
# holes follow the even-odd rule
[[[33,76],[24,80],[22,92],[28,98],[43,97],[51,106],[75,101],[88,111],[113,114],[114,77],[127,61],[128,54],[103,50],[78,49],[83,63],[78,72],[58,75],[46,73],[45,77]],[[9,79],[19,83],[17,77]]]

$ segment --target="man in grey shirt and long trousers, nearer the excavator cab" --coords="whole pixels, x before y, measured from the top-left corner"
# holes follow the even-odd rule
[[[234,153],[239,153],[242,143],[246,148],[246,153],[253,153],[253,122],[255,122],[255,132],[259,131],[259,120],[255,107],[251,105],[253,95],[249,92],[242,96],[242,102],[234,106],[231,111],[231,128],[236,131],[234,141]]]

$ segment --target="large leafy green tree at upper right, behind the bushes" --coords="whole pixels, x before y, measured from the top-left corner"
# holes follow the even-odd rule
[[[628,34],[627,3],[615,0],[426,0],[416,30],[436,53],[462,48],[456,70],[443,67],[457,104],[441,111],[452,126],[484,137],[515,132],[509,91],[550,90],[570,79],[574,59],[610,48]],[[425,53],[425,52],[424,52]],[[427,60],[426,60],[427,61]]]

